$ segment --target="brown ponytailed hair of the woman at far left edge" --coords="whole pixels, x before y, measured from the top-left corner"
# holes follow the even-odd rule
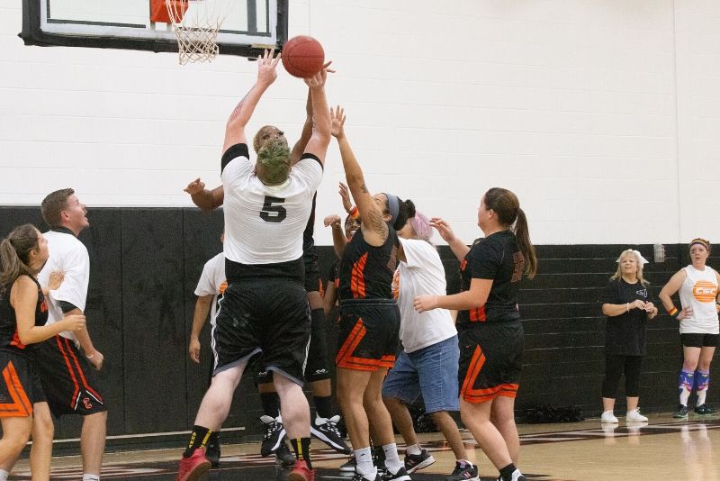
[[[28,266],[30,252],[38,248],[38,230],[29,223],[16,227],[0,242],[0,290],[7,290],[18,277],[34,277]]]

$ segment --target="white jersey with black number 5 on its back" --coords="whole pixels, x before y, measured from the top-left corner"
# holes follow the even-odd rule
[[[244,147],[244,150],[242,149]],[[247,145],[222,170],[225,190],[225,257],[240,264],[276,264],[302,258],[302,231],[310,218],[312,196],[322,180],[322,165],[303,157],[280,186],[266,186],[255,175]]]

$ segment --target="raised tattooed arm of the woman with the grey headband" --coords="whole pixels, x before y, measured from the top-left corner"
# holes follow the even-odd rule
[[[343,159],[347,186],[360,214],[360,229],[363,231],[363,237],[372,246],[382,246],[388,237],[388,225],[383,220],[383,211],[365,186],[363,169],[357,163],[355,153],[345,136],[345,111],[338,105],[334,111],[330,111],[330,116],[332,134],[338,139],[340,156]]]

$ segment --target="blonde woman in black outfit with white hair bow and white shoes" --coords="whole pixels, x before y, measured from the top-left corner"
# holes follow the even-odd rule
[[[658,314],[648,282],[643,277],[647,260],[637,250],[624,250],[617,271],[602,296],[605,326],[605,379],[602,383],[601,422],[617,422],[613,413],[620,377],[625,372],[626,422],[646,422],[637,407],[640,399],[640,368],[647,354],[646,322]]]

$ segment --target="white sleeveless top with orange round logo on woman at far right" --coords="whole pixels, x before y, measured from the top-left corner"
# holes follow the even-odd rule
[[[692,307],[692,315],[680,321],[680,334],[717,334],[717,273],[708,266],[685,268],[687,277],[680,286],[680,304]]]

